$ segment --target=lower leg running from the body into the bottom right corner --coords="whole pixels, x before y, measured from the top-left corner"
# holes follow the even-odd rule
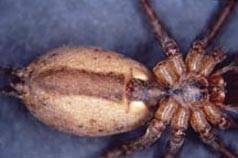
[[[236,158],[223,143],[215,136],[212,127],[206,120],[205,114],[201,110],[192,111],[190,123],[193,129],[199,133],[201,140],[212,147],[215,151],[227,158]]]

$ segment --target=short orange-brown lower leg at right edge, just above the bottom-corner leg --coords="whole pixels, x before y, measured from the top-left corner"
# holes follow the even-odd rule
[[[212,103],[207,103],[203,111],[208,121],[221,129],[237,128],[236,123]]]

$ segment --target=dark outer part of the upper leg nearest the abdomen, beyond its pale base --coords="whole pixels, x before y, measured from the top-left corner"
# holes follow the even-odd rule
[[[180,50],[177,46],[176,41],[170,37],[169,33],[164,28],[162,22],[159,17],[156,15],[155,11],[152,9],[149,4],[149,0],[140,0],[141,4],[145,10],[147,18],[153,28],[156,39],[160,42],[165,55],[173,56],[175,54],[180,54]]]

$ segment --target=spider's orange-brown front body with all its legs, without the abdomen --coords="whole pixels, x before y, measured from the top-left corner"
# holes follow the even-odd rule
[[[232,118],[224,112],[237,111],[238,107],[224,104],[226,83],[222,75],[238,68],[232,63],[214,72],[216,65],[226,58],[225,53],[219,48],[208,54],[206,50],[236,1],[227,0],[206,34],[193,42],[185,60],[148,0],[140,2],[167,57],[153,68],[153,72],[159,84],[166,88],[168,96],[158,103],[158,109],[143,136],[109,150],[102,157],[118,157],[147,148],[160,138],[167,126],[172,127],[172,135],[165,157],[175,157],[184,144],[190,124],[203,143],[224,157],[235,158],[216,136],[213,126],[220,129],[237,128]]]

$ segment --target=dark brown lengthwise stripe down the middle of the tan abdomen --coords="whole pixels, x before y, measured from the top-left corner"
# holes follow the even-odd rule
[[[48,93],[93,96],[117,102],[122,101],[126,84],[123,74],[68,68],[44,71],[31,81]]]

